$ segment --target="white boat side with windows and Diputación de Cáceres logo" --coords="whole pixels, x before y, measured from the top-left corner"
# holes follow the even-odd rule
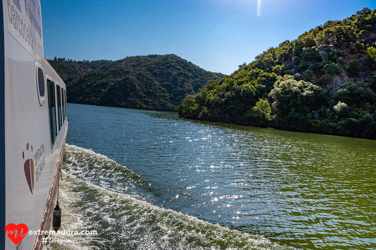
[[[40,0],[3,0],[1,8],[0,225],[45,231],[68,129],[66,86],[43,56]],[[40,249],[45,237],[27,234],[15,245],[8,236],[0,237],[0,250]]]

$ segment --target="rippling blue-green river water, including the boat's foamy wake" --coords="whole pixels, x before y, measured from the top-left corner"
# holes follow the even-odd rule
[[[376,141],[186,120],[170,112],[72,104],[68,112],[67,210],[85,221],[81,227],[113,227],[82,246],[103,249],[116,235],[133,245],[111,243],[114,249],[276,247],[252,236],[261,235],[297,249],[376,249]],[[76,196],[103,213],[86,213]],[[149,210],[167,214],[140,220]],[[213,236],[217,229],[189,235],[196,224],[184,214],[253,243],[230,244]],[[76,225],[72,218],[66,226]]]

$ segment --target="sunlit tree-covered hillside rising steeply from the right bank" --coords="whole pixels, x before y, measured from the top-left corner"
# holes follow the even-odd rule
[[[376,9],[327,21],[187,96],[179,115],[376,138]]]

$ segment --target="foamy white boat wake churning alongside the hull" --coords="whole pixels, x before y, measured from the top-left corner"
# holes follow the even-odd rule
[[[57,240],[47,249],[286,249],[263,236],[142,201],[132,193],[148,186],[146,181],[92,150],[66,144],[62,177],[60,231],[95,230],[97,235],[50,236]]]

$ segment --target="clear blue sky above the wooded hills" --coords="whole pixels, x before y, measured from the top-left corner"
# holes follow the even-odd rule
[[[118,60],[176,54],[230,74],[244,61],[376,1],[41,0],[44,56]],[[259,15],[258,15],[259,14]]]

